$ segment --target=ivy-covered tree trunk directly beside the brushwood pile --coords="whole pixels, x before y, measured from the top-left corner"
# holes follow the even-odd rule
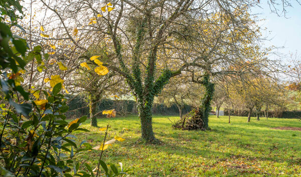
[[[205,95],[201,100],[201,106],[199,114],[203,120],[204,127],[203,129],[209,129],[208,121],[209,121],[209,111],[210,111],[210,105],[211,100],[213,98],[214,94],[214,83],[210,82],[210,75],[209,73],[206,73],[203,76],[203,80],[201,81],[201,84],[205,86]]]

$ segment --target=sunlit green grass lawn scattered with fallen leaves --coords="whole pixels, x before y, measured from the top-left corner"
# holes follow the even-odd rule
[[[103,160],[124,168],[132,167],[133,176],[301,176],[301,132],[276,130],[272,127],[301,127],[291,119],[221,116],[209,118],[212,131],[181,131],[171,127],[170,116],[154,116],[153,127],[162,145],[143,144],[140,120],[137,116],[112,118],[109,138],[121,136],[104,152]],[[178,117],[170,117],[177,120]],[[107,118],[98,119],[104,127]],[[78,141],[88,140],[94,147],[103,141],[98,128],[90,128],[89,120],[81,127],[91,132],[80,132]],[[127,128],[128,131],[122,131]],[[78,158],[96,167],[100,151],[92,150]]]

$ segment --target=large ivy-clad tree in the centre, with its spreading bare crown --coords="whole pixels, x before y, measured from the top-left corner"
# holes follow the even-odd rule
[[[228,45],[224,48],[221,46],[225,42],[231,44],[232,37],[240,36],[237,33],[244,32],[245,27],[250,27],[249,22],[245,23],[240,10],[258,4],[257,1],[247,0],[239,4],[236,1],[216,0],[41,2],[47,11],[52,12],[47,17],[48,21],[59,22],[59,25],[47,23],[54,29],[53,34],[60,35],[60,39],[67,39],[73,45],[70,51],[75,52],[68,51],[67,55],[73,57],[74,54],[75,59],[70,60],[68,66],[76,63],[77,58],[84,55],[80,50],[84,51],[90,45],[104,43],[103,48],[108,58],[104,66],[118,72],[126,80],[136,98],[141,136],[147,142],[156,140],[152,126],[154,97],[162,91],[171,77],[181,74],[181,71],[191,70],[189,66],[202,66],[203,71],[200,74],[207,73],[204,80],[209,81],[212,70],[208,68],[214,65],[210,64],[211,60],[208,58],[212,58],[213,55],[210,51],[217,51],[214,47],[216,39],[223,38],[223,42],[217,43],[220,50],[214,52],[214,58],[220,58],[221,55],[217,54],[222,53],[224,58],[229,58],[228,61],[234,59],[227,52],[232,51],[228,50]],[[224,20],[212,20],[216,15],[224,17]],[[243,23],[240,23],[241,20]],[[216,23],[214,26],[217,28],[211,29],[208,25],[212,24],[212,21]],[[221,24],[217,22],[226,25],[220,28]],[[201,28],[198,28],[200,26],[214,33],[202,33]],[[241,28],[242,26],[244,27]],[[225,27],[227,30],[223,30]],[[77,35],[72,35],[72,32]],[[215,34],[211,40],[208,39],[210,34]],[[194,39],[193,42],[187,45],[187,41],[191,39]],[[235,45],[237,44],[239,42]],[[195,50],[196,47],[193,46],[199,49]],[[209,50],[206,51],[206,55],[209,52],[210,57],[204,59],[204,55],[201,55],[203,50]],[[207,66],[197,64],[199,60],[205,61],[203,64]]]

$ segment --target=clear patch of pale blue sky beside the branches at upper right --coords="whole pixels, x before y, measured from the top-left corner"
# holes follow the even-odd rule
[[[264,2],[264,1],[263,1]],[[266,46],[284,47],[279,49],[278,52],[283,54],[295,53],[301,54],[301,5],[297,2],[292,2],[292,7],[286,8],[287,13],[277,14],[271,13],[269,6],[266,2],[261,3],[261,8],[253,8],[252,13],[258,14],[259,19],[266,19],[259,22],[262,28],[267,30],[262,31],[264,37],[271,39],[266,41]],[[301,58],[300,58],[301,60]]]

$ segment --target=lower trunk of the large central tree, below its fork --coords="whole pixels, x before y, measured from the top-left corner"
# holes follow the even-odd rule
[[[153,142],[156,139],[153,131],[152,108],[152,101],[143,103],[143,101],[137,100],[137,109],[141,123],[141,137],[147,142]]]

